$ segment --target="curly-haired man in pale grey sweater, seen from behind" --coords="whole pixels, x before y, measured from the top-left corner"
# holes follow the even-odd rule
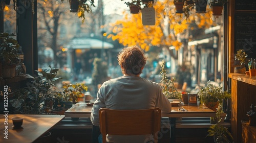
[[[159,107],[165,113],[172,111],[172,105],[159,84],[140,77],[146,59],[138,46],[126,47],[119,53],[118,63],[123,76],[106,81],[99,88],[91,113],[93,125],[99,125],[100,108],[136,110]],[[106,139],[108,142],[153,142],[152,135],[107,135]]]

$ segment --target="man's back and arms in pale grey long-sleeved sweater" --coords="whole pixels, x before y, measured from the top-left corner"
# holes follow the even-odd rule
[[[94,103],[94,109],[104,108],[118,110],[149,109],[159,107],[163,112],[170,112],[168,99],[162,94],[157,83],[147,79],[123,76],[111,79],[102,84],[98,92],[99,102]],[[96,118],[95,118],[96,117]],[[91,116],[92,122],[98,125],[98,116]],[[96,123],[94,123],[96,122]],[[125,124],[125,123],[124,123]],[[110,142],[147,142],[152,140],[152,135],[140,136],[114,136],[108,135]],[[132,139],[132,140],[131,140]]]

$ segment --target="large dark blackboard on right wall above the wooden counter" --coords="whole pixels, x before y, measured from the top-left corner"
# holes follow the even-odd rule
[[[244,49],[248,58],[256,58],[256,14],[236,14],[234,20],[235,54]]]

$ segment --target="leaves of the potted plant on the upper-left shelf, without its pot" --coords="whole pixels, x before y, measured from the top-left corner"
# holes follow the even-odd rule
[[[11,65],[16,64],[19,61],[18,58],[18,41],[10,36],[15,36],[14,33],[0,33],[0,41],[3,41],[0,45],[0,59],[2,64]]]

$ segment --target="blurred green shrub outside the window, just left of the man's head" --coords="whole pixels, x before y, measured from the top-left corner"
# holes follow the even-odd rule
[[[108,66],[99,58],[94,59],[93,66],[92,83],[97,86],[108,78]]]

